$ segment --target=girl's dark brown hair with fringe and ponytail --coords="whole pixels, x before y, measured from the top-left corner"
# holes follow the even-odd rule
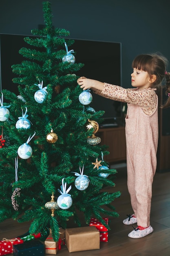
[[[132,62],[132,68],[148,72],[150,76],[156,75],[156,80],[152,87],[159,87],[162,80],[166,78],[166,94],[170,93],[170,73],[166,71],[168,60],[159,54],[141,54],[138,55]],[[170,95],[170,94],[169,94]],[[161,108],[170,106],[170,97]]]

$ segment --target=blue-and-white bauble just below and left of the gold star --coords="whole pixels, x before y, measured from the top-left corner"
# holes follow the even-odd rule
[[[80,171],[80,174],[79,173],[75,173],[75,176],[78,176],[78,177],[75,179],[74,184],[75,184],[76,189],[78,189],[78,190],[85,190],[85,189],[88,188],[90,180],[88,179],[87,175],[83,174],[84,166],[82,168],[82,171],[81,171],[81,168],[79,166],[79,171]]]

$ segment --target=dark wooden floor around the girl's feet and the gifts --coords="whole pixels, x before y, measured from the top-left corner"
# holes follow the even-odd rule
[[[170,172],[156,173],[153,182],[152,209],[150,221],[153,233],[139,239],[128,238],[132,226],[122,223],[126,214],[132,214],[130,197],[127,190],[126,167],[117,168],[115,188],[109,191],[121,191],[121,197],[113,205],[119,218],[109,218],[111,231],[108,243],[100,243],[100,249],[69,253],[65,245],[57,252],[60,256],[170,256]],[[134,225],[136,227],[136,225]],[[0,223],[0,240],[11,239],[24,234],[29,223],[7,220]],[[12,254],[11,254],[12,255]],[[51,254],[46,254],[50,256]]]

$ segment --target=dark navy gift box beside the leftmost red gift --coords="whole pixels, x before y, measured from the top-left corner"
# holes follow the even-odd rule
[[[13,245],[13,256],[44,256],[44,244],[39,240],[31,240],[20,244]]]

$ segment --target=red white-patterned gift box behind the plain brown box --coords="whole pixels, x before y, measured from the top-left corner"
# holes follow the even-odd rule
[[[103,218],[108,225],[108,218]],[[100,242],[108,242],[108,229],[97,219],[91,218],[90,226],[95,226],[100,232]]]

